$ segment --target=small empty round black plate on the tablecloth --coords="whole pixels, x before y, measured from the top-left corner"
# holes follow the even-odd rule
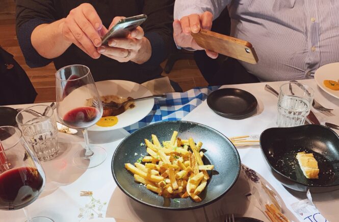
[[[241,117],[255,110],[258,102],[242,89],[218,89],[207,97],[207,105],[223,117]]]

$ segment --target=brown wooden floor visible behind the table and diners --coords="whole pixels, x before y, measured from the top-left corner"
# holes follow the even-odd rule
[[[15,5],[13,0],[1,0],[0,7],[0,46],[14,55],[14,59],[27,72],[33,86],[38,92],[36,103],[55,101],[55,67],[53,63],[41,67],[30,68],[26,65],[15,34]],[[162,66],[166,61],[162,63]],[[206,86],[207,83],[201,76],[193,59],[178,60],[171,72],[167,75],[171,80],[179,83],[187,91],[194,87]]]

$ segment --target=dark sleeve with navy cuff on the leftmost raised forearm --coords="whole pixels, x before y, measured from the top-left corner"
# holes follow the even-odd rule
[[[42,57],[35,50],[31,36],[37,26],[55,20],[53,1],[16,0],[16,35],[25,61],[31,68],[42,67],[52,61]]]

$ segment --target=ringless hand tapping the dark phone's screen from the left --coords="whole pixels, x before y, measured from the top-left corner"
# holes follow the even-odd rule
[[[96,48],[101,45],[102,22],[92,5],[88,3],[72,9],[62,24],[62,34],[66,41],[74,43],[90,57],[97,59]]]

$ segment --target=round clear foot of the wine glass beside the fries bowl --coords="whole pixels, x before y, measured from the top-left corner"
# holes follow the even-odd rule
[[[93,155],[90,157],[85,157],[85,149],[74,154],[73,163],[75,166],[82,169],[89,169],[100,165],[106,160],[106,150],[101,146],[90,145],[90,149],[93,151]]]

